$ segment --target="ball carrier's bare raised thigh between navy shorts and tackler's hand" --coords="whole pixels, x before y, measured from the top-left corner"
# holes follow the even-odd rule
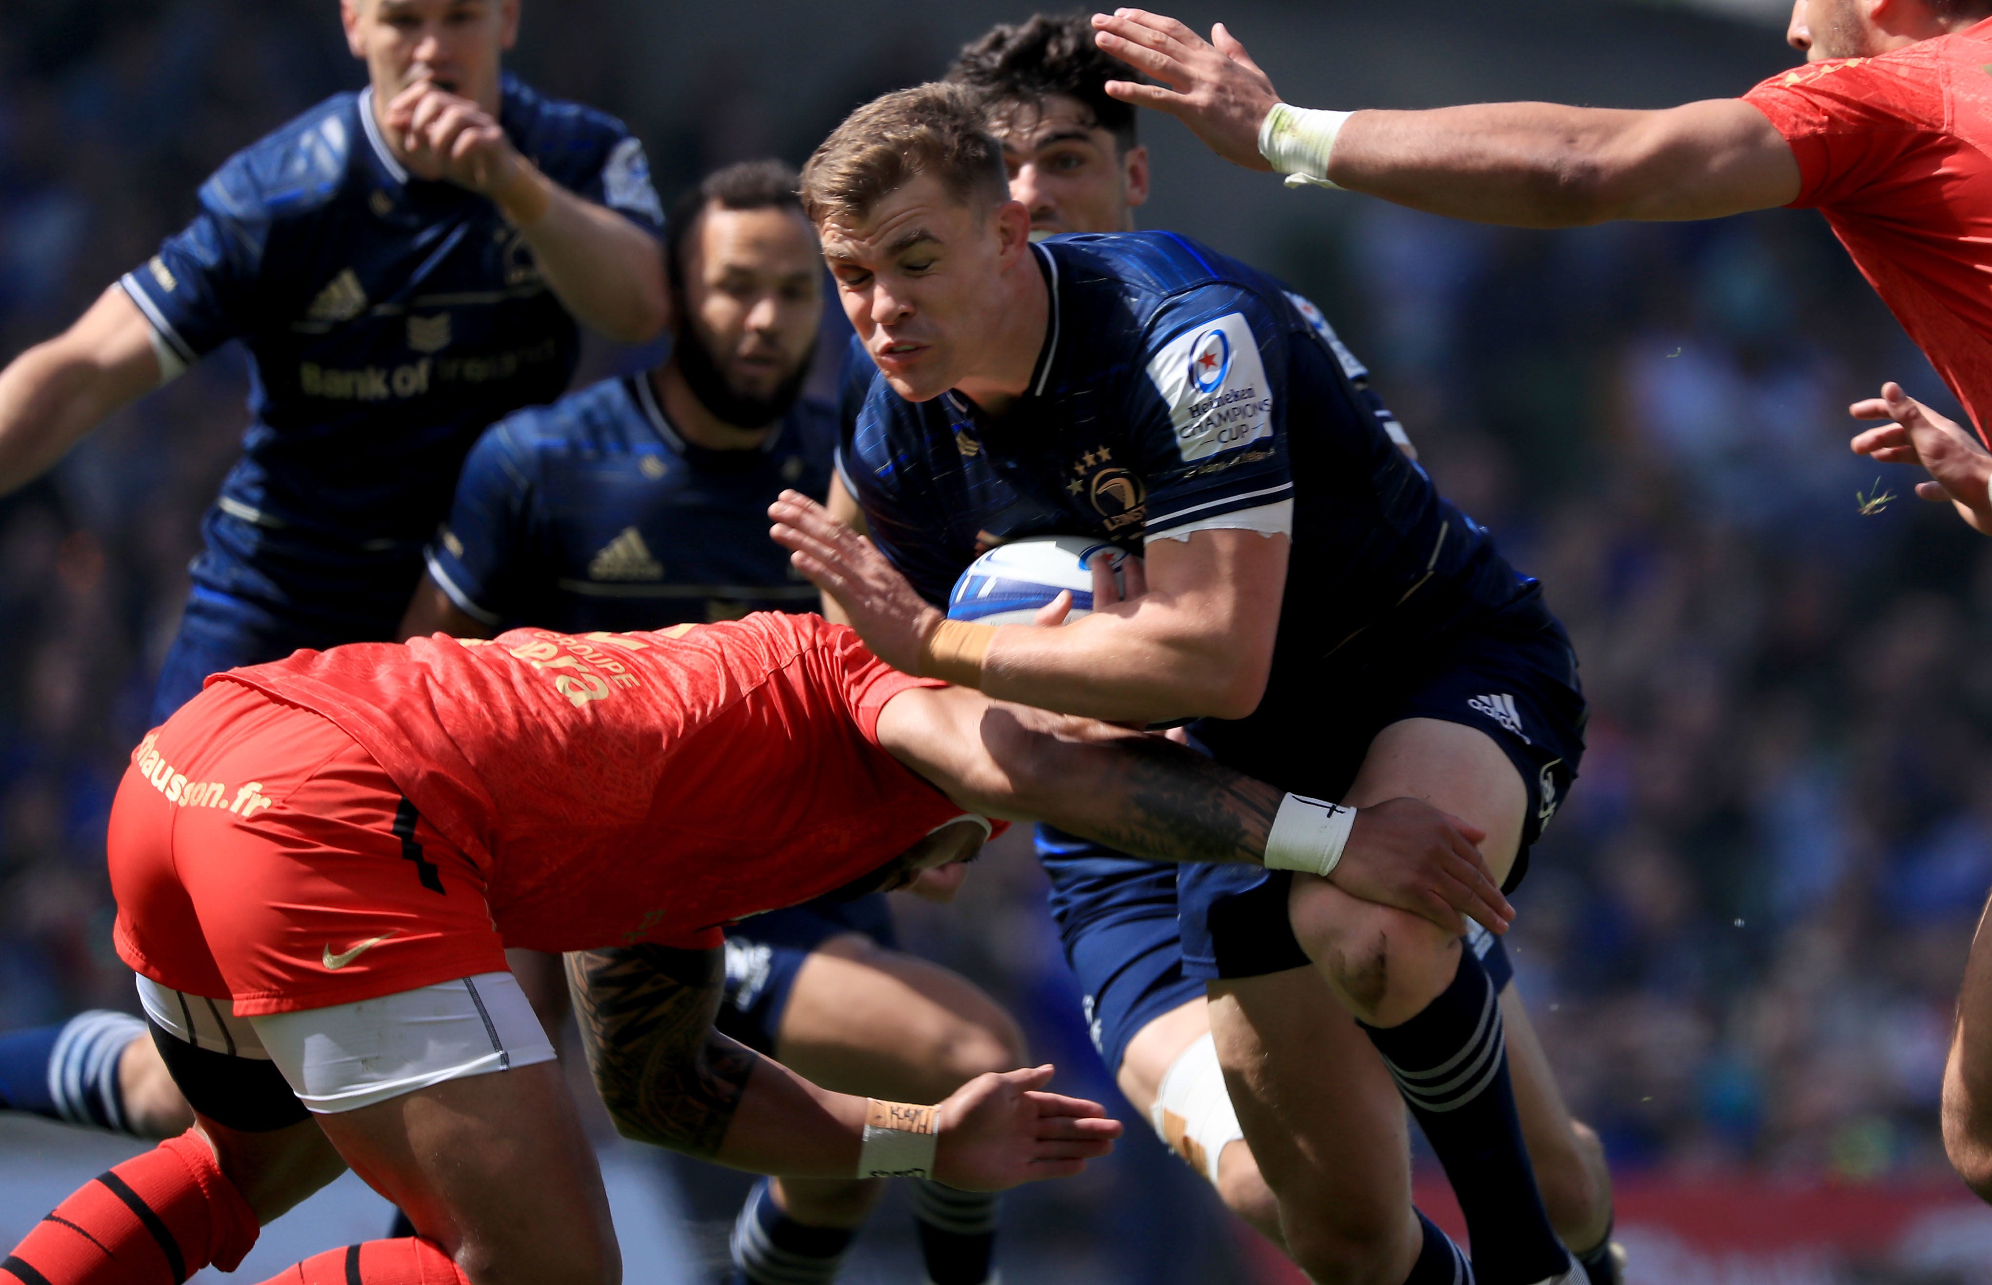
[[[1486,831],[1480,853],[1494,879],[1506,879],[1522,847],[1528,787],[1514,761],[1488,733],[1444,719],[1402,719],[1370,741],[1345,803],[1424,799]]]

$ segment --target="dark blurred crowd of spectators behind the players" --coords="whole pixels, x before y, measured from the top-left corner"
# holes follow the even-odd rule
[[[767,14],[528,0],[512,66],[629,120],[669,199],[711,165],[801,161],[849,106],[1028,12],[739,8]],[[1793,60],[1775,26],[1667,8],[1201,8],[1183,16],[1225,18],[1311,106],[1657,106]],[[333,0],[0,0],[0,359],[141,263],[229,151],[359,82]],[[1954,406],[1825,223],[1464,227],[1285,193],[1173,122],[1143,129],[1145,225],[1309,293],[1570,626],[1590,751],[1510,942],[1619,1171],[1948,1173],[1938,1080],[1992,887],[1992,542],[1849,454],[1845,406],[1882,379]],[[223,353],[0,500],[0,1028],[131,1006],[106,813],[243,390]],[[904,920],[1030,1022],[1068,1090],[1112,1100],[1026,851]],[[679,1175],[695,1215],[731,1217],[737,1187]],[[1022,1267],[1040,1257],[1088,1281],[1243,1279],[1241,1241],[1145,1130],[1056,1187],[1012,1199],[1018,1279],[1062,1279]]]

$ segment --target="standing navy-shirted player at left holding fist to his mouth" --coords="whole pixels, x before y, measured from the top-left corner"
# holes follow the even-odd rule
[[[12,490],[125,402],[247,347],[243,454],[205,516],[151,723],[219,669],[392,638],[484,424],[566,388],[576,321],[637,343],[665,319],[643,149],[502,72],[518,0],[343,0],[341,20],[369,86],[231,157],[185,231],[0,373]],[[0,1092],[177,1132],[141,1036],[104,1012],[4,1036]]]

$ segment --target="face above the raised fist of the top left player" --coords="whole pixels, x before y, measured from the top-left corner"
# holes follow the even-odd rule
[[[498,110],[498,60],[518,40],[518,0],[341,0],[339,12],[380,102],[426,80]]]

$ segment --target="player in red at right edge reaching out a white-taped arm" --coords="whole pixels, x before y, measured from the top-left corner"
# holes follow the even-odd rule
[[[1978,442],[1886,385],[1859,418],[1888,418],[1855,450],[1918,462],[1924,500],[1992,534],[1992,66],[1986,0],[1795,0],[1787,42],[1807,68],[1743,98],[1663,112],[1480,104],[1432,112],[1303,112],[1221,24],[1211,42],[1173,18],[1120,10],[1104,50],[1159,80],[1112,94],[1183,120],[1219,155],[1289,183],[1347,187],[1484,223],[1715,219],[1819,209],[1855,265],[1978,426]],[[1952,1167],[1992,1199],[1992,932],[1964,972],[1942,1094]]]

